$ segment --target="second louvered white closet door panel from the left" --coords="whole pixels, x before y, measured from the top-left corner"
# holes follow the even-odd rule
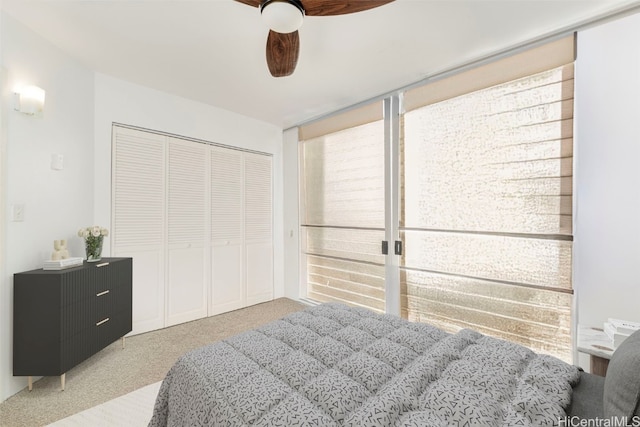
[[[207,315],[208,146],[169,138],[167,326]]]

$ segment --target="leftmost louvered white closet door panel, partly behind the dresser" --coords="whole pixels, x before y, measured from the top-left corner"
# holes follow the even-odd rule
[[[164,327],[165,142],[113,127],[111,254],[133,258],[133,333]]]

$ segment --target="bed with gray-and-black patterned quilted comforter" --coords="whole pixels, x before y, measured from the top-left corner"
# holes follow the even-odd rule
[[[640,355],[640,334],[632,338],[623,371]],[[634,395],[637,381],[623,382],[628,390],[608,390],[575,366],[469,329],[449,334],[327,303],[182,356],[149,426],[538,426],[623,415],[631,422],[640,388]]]

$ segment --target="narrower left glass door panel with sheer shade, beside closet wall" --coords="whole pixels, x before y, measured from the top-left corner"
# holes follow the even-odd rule
[[[384,125],[321,129],[301,142],[301,225],[307,297],[383,312]]]

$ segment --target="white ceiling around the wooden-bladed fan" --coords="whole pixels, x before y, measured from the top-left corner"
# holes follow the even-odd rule
[[[639,5],[396,0],[306,17],[297,69],[274,78],[258,9],[233,0],[2,0],[9,15],[90,69],[282,128]]]

